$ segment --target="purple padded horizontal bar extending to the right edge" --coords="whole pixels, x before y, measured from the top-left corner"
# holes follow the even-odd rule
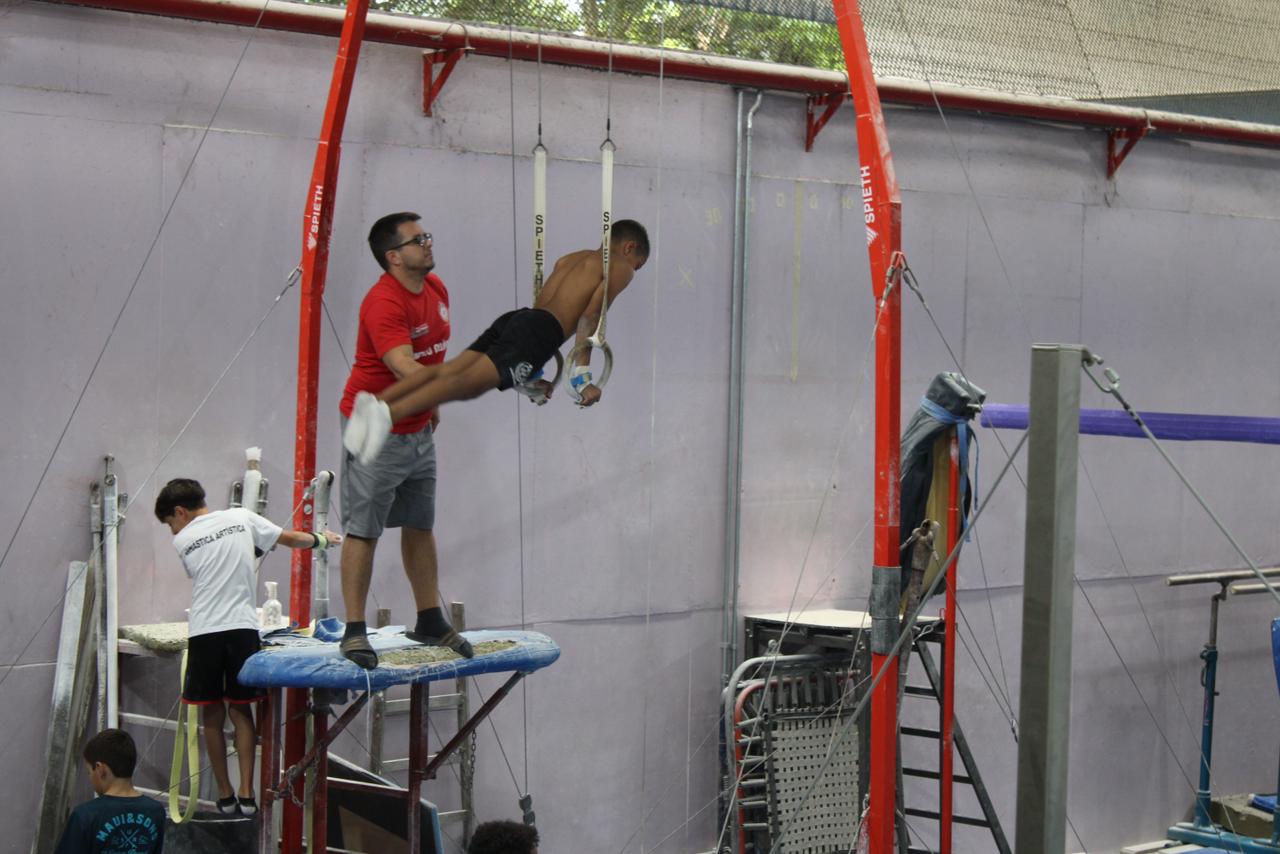
[[[1280,419],[1184,412],[1139,412],[1139,415],[1157,439],[1280,444]],[[1014,403],[987,403],[982,407],[982,425],[1025,430],[1027,407]],[[1080,410],[1080,433],[1143,437],[1143,431],[1123,410]]]

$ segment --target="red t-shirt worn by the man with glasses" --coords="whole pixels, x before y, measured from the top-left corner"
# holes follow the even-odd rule
[[[426,274],[422,293],[410,293],[384,273],[365,294],[360,303],[356,362],[338,406],[344,416],[351,417],[356,392],[376,394],[396,382],[383,356],[403,344],[413,348],[413,359],[420,365],[444,361],[444,351],[449,347],[449,292],[434,273]],[[430,420],[429,410],[397,421],[392,433],[417,433]]]

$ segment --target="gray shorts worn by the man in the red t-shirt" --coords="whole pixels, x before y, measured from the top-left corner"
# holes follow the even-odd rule
[[[342,420],[346,429],[347,419]],[[384,528],[435,526],[435,442],[431,429],[392,433],[364,466],[343,451],[339,490],[343,533],[378,539]]]

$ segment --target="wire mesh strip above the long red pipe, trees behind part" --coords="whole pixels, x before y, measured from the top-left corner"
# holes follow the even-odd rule
[[[1276,0],[861,0],[860,5],[881,77],[1280,123]],[[374,8],[845,68],[828,0],[374,0]]]

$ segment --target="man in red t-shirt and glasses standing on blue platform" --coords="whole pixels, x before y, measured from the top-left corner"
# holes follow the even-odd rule
[[[392,383],[444,361],[449,346],[449,293],[431,273],[431,236],[412,213],[383,216],[369,230],[369,248],[385,271],[360,303],[356,361],[342,396],[343,419],[351,417],[360,392],[376,394]],[[470,658],[471,644],[453,631],[436,590],[434,410],[396,424],[376,458],[342,460],[342,599],[347,630],[342,653],[361,667],[376,667],[369,644],[365,606],[372,577],[374,549],[387,528],[401,529],[401,557],[417,607],[413,630],[404,632]]]

